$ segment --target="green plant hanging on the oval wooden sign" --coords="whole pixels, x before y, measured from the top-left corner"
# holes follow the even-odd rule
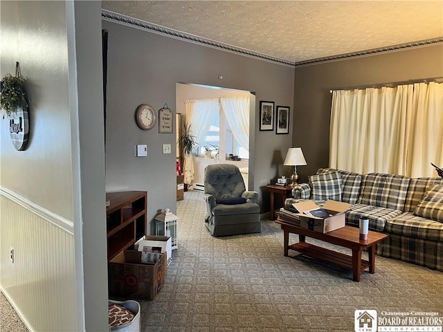
[[[26,104],[26,107],[28,106],[28,98],[26,98],[26,93],[23,89],[24,81],[18,62],[15,64],[15,76],[7,73],[0,81],[0,109],[6,111],[6,116],[16,113],[17,109],[23,107],[24,104]]]

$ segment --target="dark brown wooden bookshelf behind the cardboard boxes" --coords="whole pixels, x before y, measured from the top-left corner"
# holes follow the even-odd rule
[[[109,261],[147,235],[147,192],[108,192],[106,200]]]

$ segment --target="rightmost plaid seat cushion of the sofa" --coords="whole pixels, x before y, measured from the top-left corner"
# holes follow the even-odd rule
[[[411,212],[404,212],[386,221],[385,232],[415,239],[443,241],[443,223],[415,216]]]

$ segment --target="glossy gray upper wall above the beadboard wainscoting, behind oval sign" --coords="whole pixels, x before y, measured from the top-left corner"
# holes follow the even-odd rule
[[[15,75],[15,62],[20,62],[31,102],[30,139],[26,151],[14,149],[8,121],[1,120],[0,176],[3,187],[72,220],[64,8],[62,1],[46,3],[46,6],[37,1],[2,1],[1,76],[5,73]],[[3,116],[3,111],[1,114]]]

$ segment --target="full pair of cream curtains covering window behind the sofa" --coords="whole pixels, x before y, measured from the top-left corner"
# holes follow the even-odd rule
[[[443,165],[443,84],[334,91],[329,166],[436,176]]]

